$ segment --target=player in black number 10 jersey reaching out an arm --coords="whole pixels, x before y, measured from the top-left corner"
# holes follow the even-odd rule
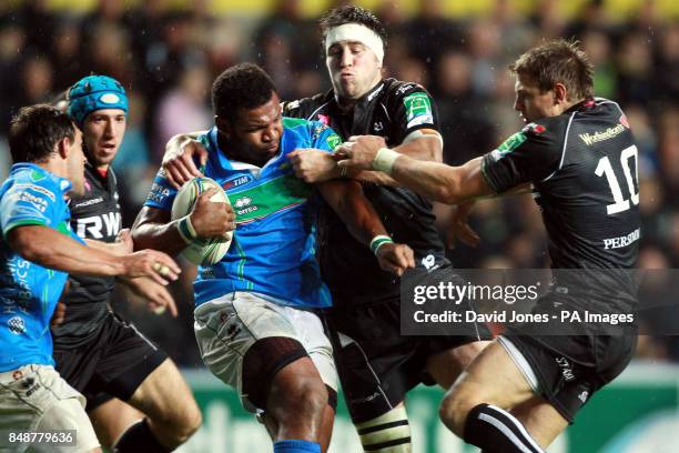
[[[634,313],[631,272],[611,271],[635,268],[640,235],[638,151],[625,113],[594,97],[592,66],[574,42],[540,44],[509,69],[516,76],[514,108],[527,125],[496,150],[447,167],[389,150],[381,137],[363,137],[338,151],[349,157],[341,167],[383,171],[450,204],[530,183],[555,270],[551,291],[534,312],[550,319],[560,310]],[[559,269],[590,271],[574,279]],[[545,335],[553,325],[537,335],[509,329],[447,392],[444,423],[485,452],[546,449],[635,350],[635,334],[572,324],[578,335]]]

